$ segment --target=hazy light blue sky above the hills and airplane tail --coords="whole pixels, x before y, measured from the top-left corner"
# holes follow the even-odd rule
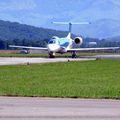
[[[67,30],[51,22],[120,20],[120,0],[0,0],[0,19]]]

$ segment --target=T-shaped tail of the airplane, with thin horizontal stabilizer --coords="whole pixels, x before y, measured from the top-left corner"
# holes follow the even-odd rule
[[[72,25],[91,24],[90,22],[53,22],[54,24],[69,25],[69,36],[71,37]]]

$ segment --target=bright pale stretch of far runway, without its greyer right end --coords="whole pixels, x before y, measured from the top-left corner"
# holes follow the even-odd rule
[[[35,64],[35,63],[52,63],[68,61],[88,61],[95,58],[21,58],[21,57],[0,57],[0,65],[17,65],[17,64]]]

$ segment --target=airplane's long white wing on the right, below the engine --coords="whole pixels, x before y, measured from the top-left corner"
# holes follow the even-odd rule
[[[74,51],[100,51],[100,50],[117,50],[120,49],[120,47],[103,47],[103,48],[73,48],[73,49],[68,49],[67,52],[74,52]]]

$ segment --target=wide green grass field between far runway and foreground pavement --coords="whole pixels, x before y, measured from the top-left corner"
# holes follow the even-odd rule
[[[120,99],[120,60],[0,66],[0,95]]]

